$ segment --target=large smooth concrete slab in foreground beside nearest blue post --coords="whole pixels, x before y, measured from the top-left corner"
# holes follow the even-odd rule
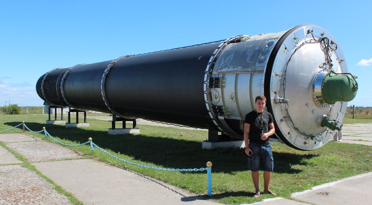
[[[189,193],[165,182],[92,159],[33,165],[84,204],[218,204],[188,198]]]

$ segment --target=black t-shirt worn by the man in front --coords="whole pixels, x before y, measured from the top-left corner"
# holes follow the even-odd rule
[[[261,119],[262,119],[262,123],[261,123]],[[248,113],[246,115],[246,118],[244,119],[244,123],[250,124],[249,142],[260,143],[260,144],[270,143],[269,138],[267,138],[267,140],[262,140],[261,134],[269,132],[268,125],[272,123],[273,121],[274,121],[273,116],[267,111],[264,111],[263,114],[257,113],[256,110],[253,110],[250,113]]]

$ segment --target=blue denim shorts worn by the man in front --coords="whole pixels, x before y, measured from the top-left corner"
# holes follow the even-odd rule
[[[255,172],[264,170],[272,172],[274,168],[273,152],[270,143],[249,143],[253,154],[248,156],[248,169]]]

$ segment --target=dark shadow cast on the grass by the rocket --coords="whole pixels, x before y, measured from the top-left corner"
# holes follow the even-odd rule
[[[19,122],[4,123],[16,126]],[[45,126],[41,123],[27,123],[31,130],[39,131]],[[47,125],[49,134],[53,137],[83,143],[88,137],[103,149],[126,154],[142,162],[151,162],[167,168],[200,168],[206,167],[206,162],[213,163],[212,172],[231,173],[247,171],[247,156],[243,149],[202,149],[201,142],[185,139],[154,137],[142,134],[109,135],[107,131],[85,130],[81,128],[65,128],[61,125]],[[273,152],[275,159],[274,172],[299,173],[291,165],[301,165],[302,159],[309,159],[313,154],[292,154]]]

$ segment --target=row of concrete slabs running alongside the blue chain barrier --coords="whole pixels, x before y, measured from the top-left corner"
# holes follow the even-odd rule
[[[67,147],[24,134],[0,134],[0,141],[25,156],[36,169],[84,204],[219,204],[130,170],[86,159],[83,154]],[[19,163],[4,148],[0,149],[0,157],[1,162],[6,164]],[[0,178],[2,175],[0,172]],[[7,188],[0,187],[0,193],[1,190]]]

